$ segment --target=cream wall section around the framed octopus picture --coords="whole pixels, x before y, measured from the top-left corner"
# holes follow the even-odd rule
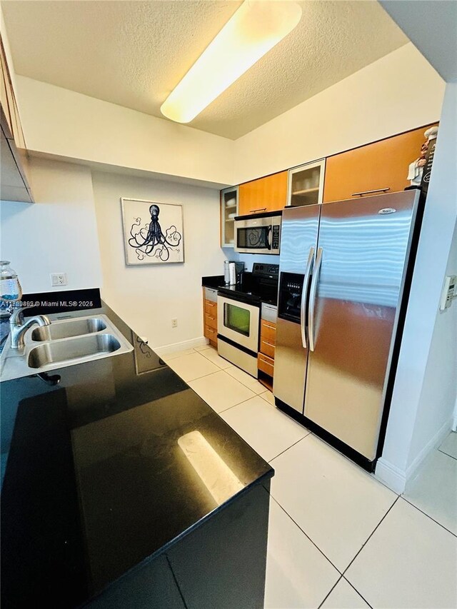
[[[226,259],[219,247],[219,191],[99,172],[93,184],[106,303],[153,347],[201,338],[201,277],[221,275]],[[121,196],[182,203],[184,264],[125,265]]]

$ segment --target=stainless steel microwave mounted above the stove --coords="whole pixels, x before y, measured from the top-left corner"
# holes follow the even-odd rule
[[[278,254],[281,246],[282,211],[235,218],[235,251]]]

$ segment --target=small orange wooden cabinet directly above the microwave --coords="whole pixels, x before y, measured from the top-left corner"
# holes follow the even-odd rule
[[[287,171],[245,182],[238,188],[238,214],[282,209],[287,203]]]

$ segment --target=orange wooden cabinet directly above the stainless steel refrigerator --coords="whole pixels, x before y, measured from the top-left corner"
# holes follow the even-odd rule
[[[428,127],[421,127],[329,156],[326,159],[323,202],[353,198],[354,193],[366,191],[379,190],[379,194],[382,189],[388,193],[403,191],[409,186],[408,166],[421,153],[426,129]]]

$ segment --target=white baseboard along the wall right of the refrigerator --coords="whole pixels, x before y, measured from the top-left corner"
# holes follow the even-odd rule
[[[446,423],[443,423],[441,428],[439,428],[433,438],[426,443],[426,446],[423,447],[421,452],[418,453],[406,470],[401,470],[382,457],[379,458],[378,463],[376,463],[376,478],[381,480],[381,482],[388,486],[388,488],[391,488],[395,493],[398,493],[398,495],[404,493],[406,483],[413,478],[421,463],[431,451],[440,446],[441,442],[446,438],[446,435],[451,431],[452,423],[452,418],[448,419]]]

